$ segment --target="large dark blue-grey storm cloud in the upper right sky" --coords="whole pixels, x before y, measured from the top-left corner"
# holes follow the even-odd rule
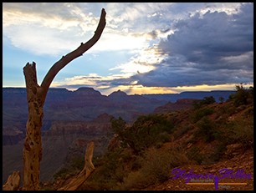
[[[131,80],[172,87],[253,82],[253,3],[237,14],[197,13],[174,26],[177,31],[158,45],[167,58]]]

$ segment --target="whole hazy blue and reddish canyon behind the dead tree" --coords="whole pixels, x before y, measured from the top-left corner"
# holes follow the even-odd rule
[[[50,88],[44,104],[42,126],[43,160],[40,180],[51,180],[71,155],[84,155],[95,141],[95,156],[103,154],[113,136],[110,119],[121,117],[132,123],[144,114],[186,109],[192,99],[219,96],[228,99],[233,91],[186,92],[185,94],[125,94],[106,96],[93,88]],[[186,99],[184,99],[184,97]],[[3,88],[3,183],[13,170],[23,168],[23,140],[28,104],[25,88]]]

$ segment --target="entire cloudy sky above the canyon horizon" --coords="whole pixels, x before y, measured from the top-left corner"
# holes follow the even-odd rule
[[[253,3],[3,3],[3,87],[38,84],[54,63],[106,26],[59,71],[52,88],[109,95],[172,94],[253,86]]]

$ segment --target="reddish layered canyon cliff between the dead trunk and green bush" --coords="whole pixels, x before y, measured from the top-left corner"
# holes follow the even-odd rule
[[[55,121],[43,136],[40,179],[52,179],[54,173],[72,157],[83,157],[85,147],[91,140],[95,142],[94,155],[103,154],[112,136],[111,118],[109,114],[100,114],[91,121]]]

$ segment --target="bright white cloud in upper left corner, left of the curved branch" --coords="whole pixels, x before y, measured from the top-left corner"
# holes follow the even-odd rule
[[[72,3],[3,3],[3,36],[30,53],[65,54],[93,36],[99,18]]]

